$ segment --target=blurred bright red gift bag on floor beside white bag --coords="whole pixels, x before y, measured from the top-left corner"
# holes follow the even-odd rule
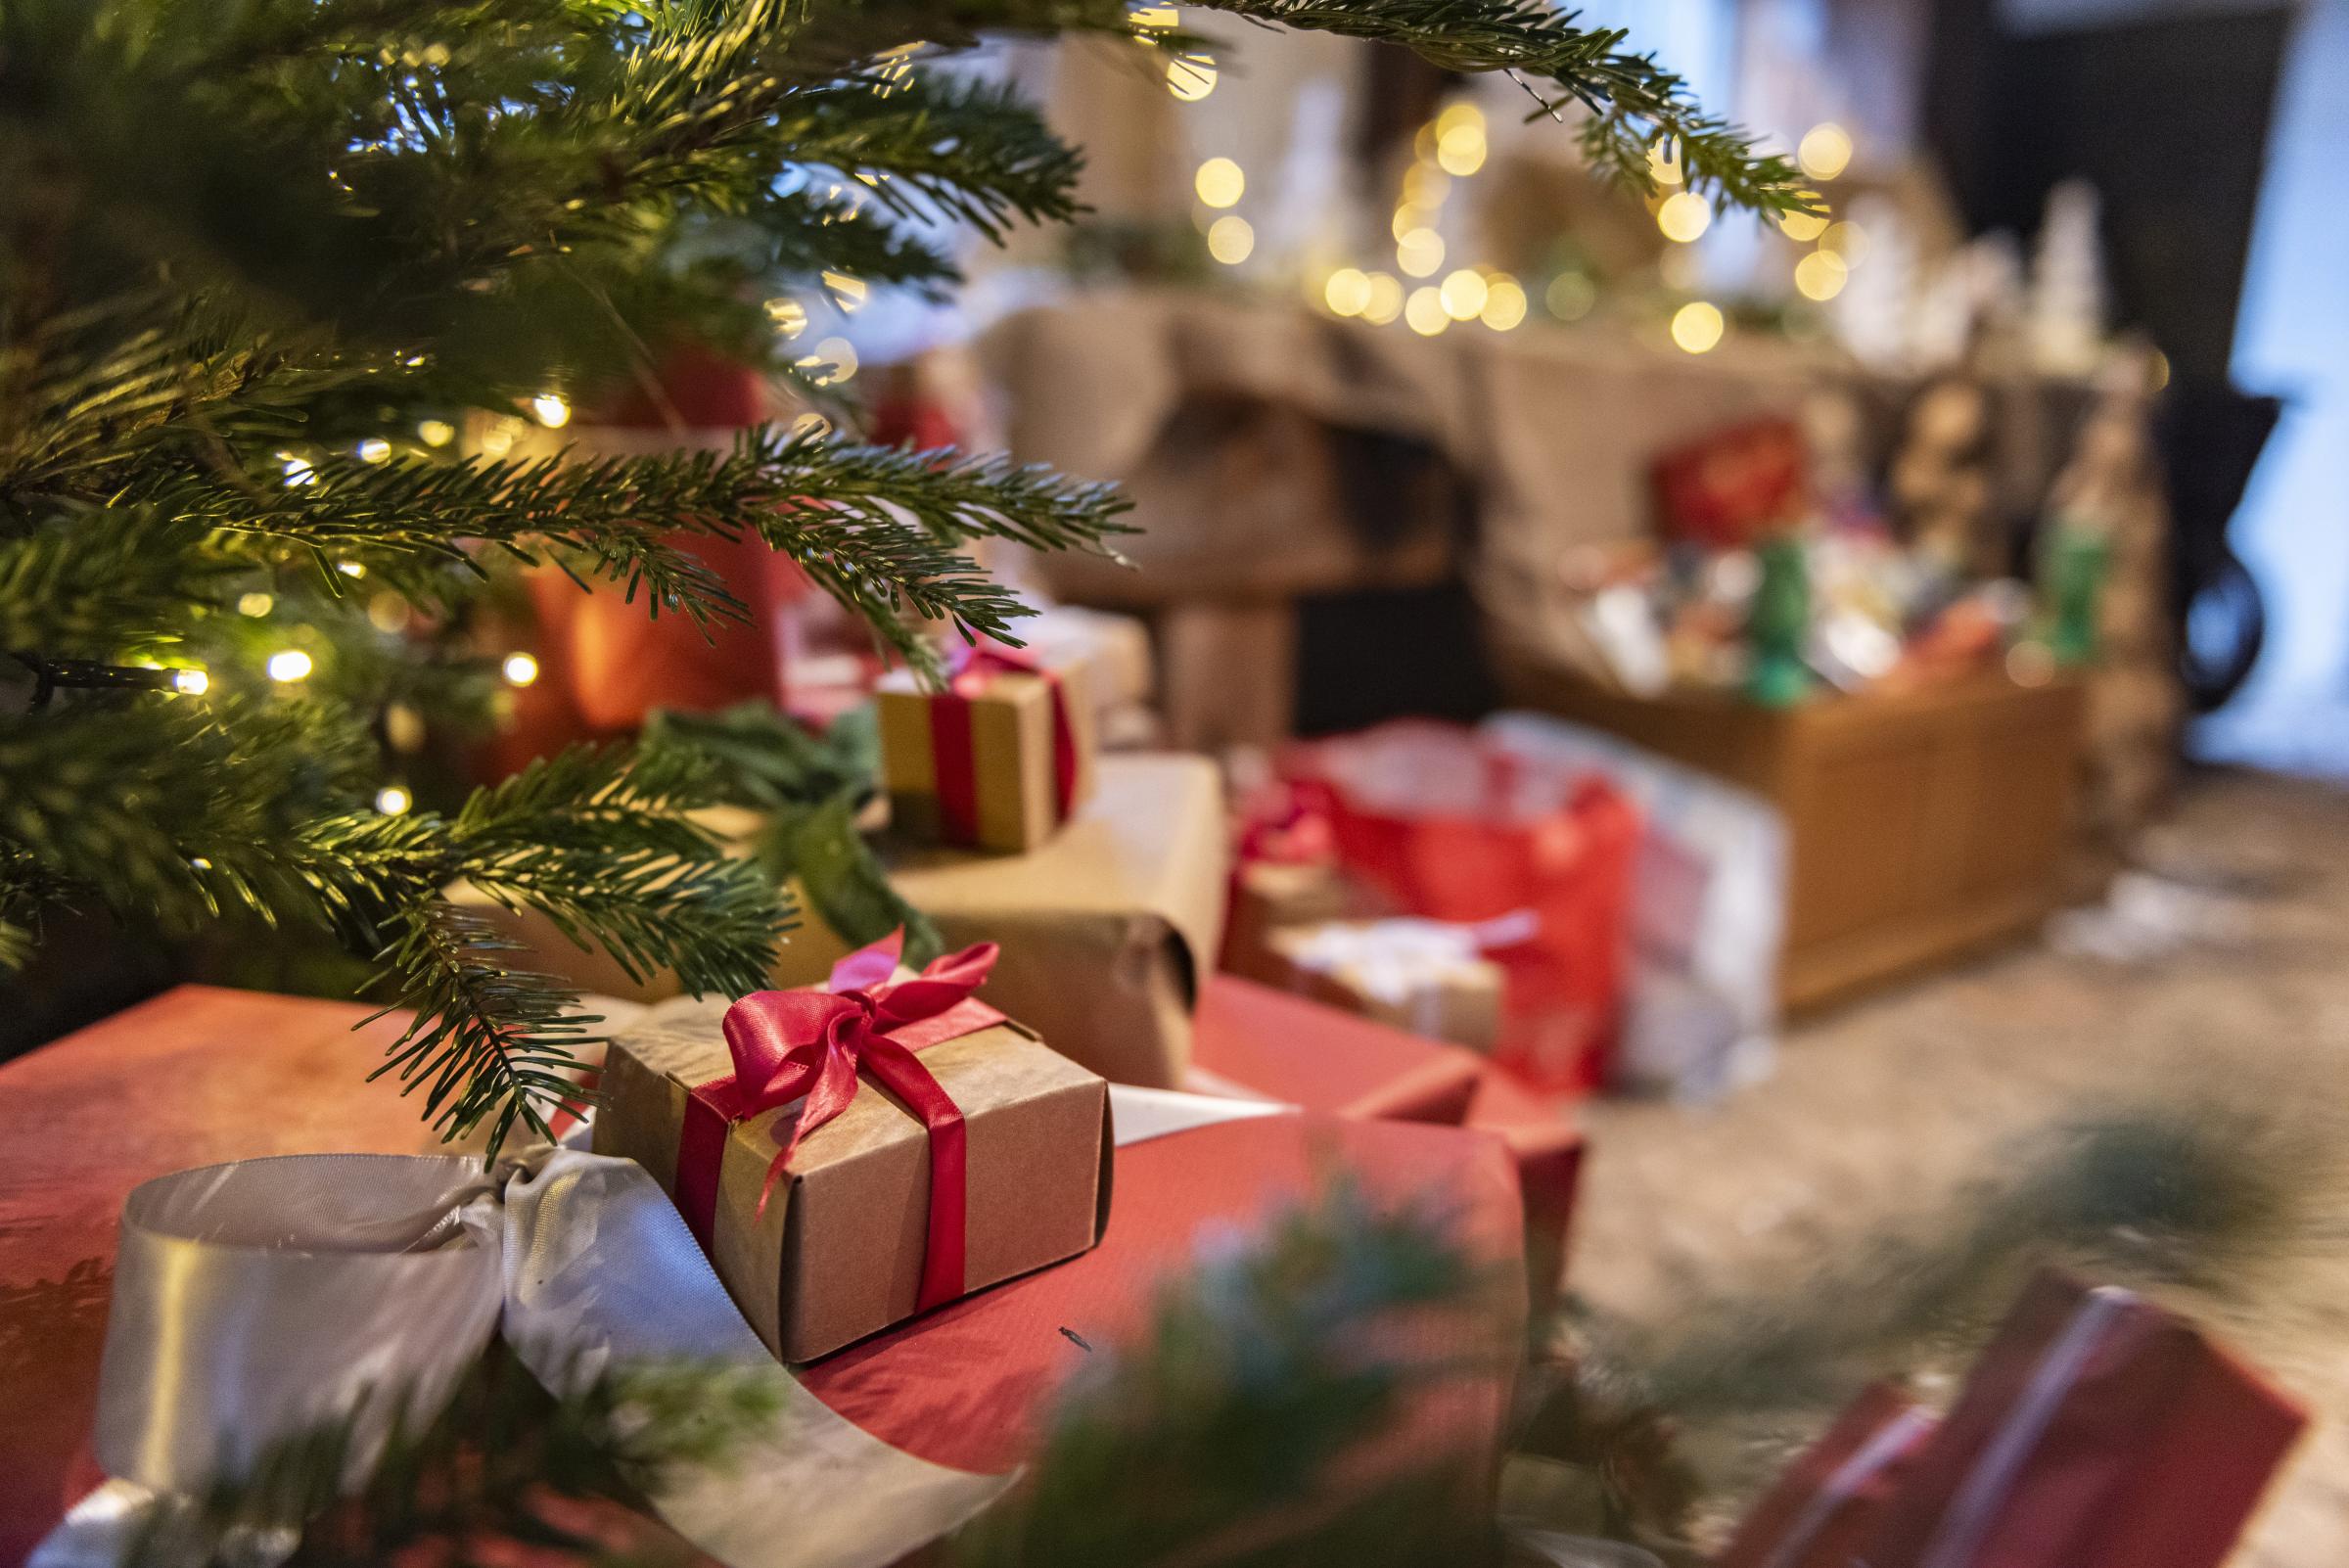
[[[1529,939],[1485,953],[1508,974],[1494,1054],[1541,1089],[1604,1082],[1640,850],[1640,812],[1621,791],[1419,721],[1297,744],[1283,772],[1318,793],[1339,864],[1405,913],[1532,911]]]

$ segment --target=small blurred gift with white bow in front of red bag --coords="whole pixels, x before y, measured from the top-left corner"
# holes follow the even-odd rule
[[[1292,986],[1365,1019],[1489,1052],[1501,1035],[1501,965],[1452,920],[1330,920],[1276,930]]]

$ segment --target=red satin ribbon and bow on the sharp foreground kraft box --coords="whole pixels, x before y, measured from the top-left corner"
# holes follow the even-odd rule
[[[857,948],[832,967],[829,988],[759,991],[726,1009],[726,1049],[735,1070],[695,1084],[686,1099],[677,1207],[709,1251],[728,1129],[806,1096],[759,1188],[759,1214],[766,1214],[766,1199],[799,1141],[848,1110],[862,1073],[902,1099],[930,1134],[930,1225],[916,1298],[928,1310],[963,1293],[968,1171],[963,1113],[914,1052],[1001,1023],[1003,1014],[970,995],[996,967],[996,944],[982,941],[933,960],[893,986],[888,976],[902,944],[900,930]]]

